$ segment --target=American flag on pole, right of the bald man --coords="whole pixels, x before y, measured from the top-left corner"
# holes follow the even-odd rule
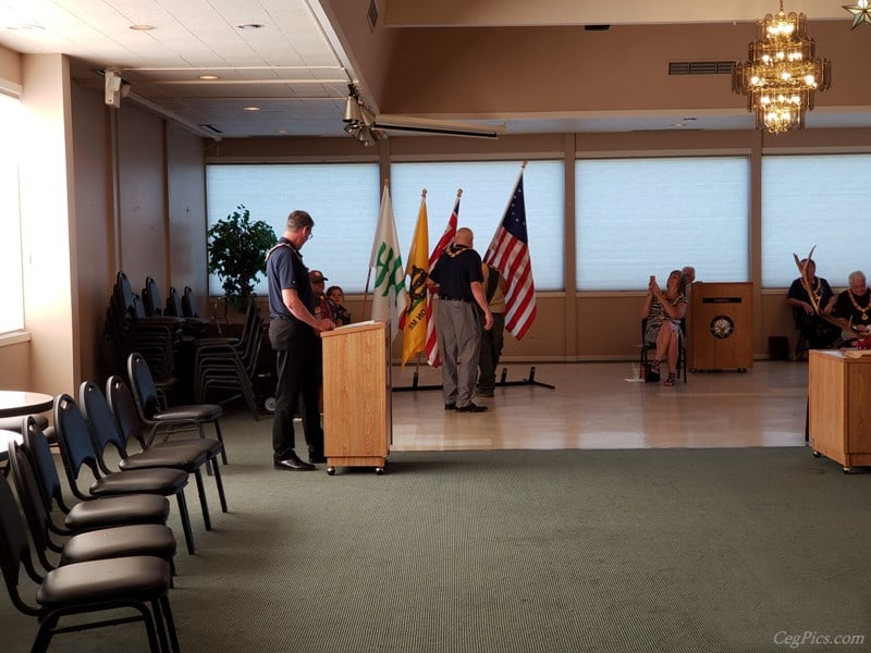
[[[520,340],[536,319],[536,286],[526,235],[523,170],[483,261],[499,270],[506,281],[505,329]]]

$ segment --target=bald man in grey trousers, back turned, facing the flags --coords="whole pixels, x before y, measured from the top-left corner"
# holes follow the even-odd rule
[[[481,346],[476,304],[483,313],[483,328],[493,328],[493,315],[483,293],[481,257],[471,248],[473,238],[470,229],[457,230],[453,245],[439,257],[427,279],[430,288],[439,288],[436,329],[442,355],[444,409],[457,412],[487,410],[487,406],[471,401]]]

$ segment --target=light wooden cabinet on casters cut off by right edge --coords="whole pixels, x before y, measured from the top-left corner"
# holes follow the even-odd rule
[[[845,471],[871,466],[871,357],[848,352],[812,349],[808,362],[810,445]]]

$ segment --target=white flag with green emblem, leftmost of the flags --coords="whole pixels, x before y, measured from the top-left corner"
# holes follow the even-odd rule
[[[375,270],[372,319],[389,322],[390,332],[396,337],[398,317],[405,310],[408,297],[405,293],[405,269],[400,254],[400,239],[396,237],[396,223],[393,220],[393,207],[387,185],[381,196],[381,212],[378,215],[369,267]]]

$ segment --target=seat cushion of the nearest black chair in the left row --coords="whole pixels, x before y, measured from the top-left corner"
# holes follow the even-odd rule
[[[36,600],[44,607],[119,599],[150,601],[167,592],[169,584],[170,564],[163,558],[121,557],[77,563],[49,571],[36,592]]]

